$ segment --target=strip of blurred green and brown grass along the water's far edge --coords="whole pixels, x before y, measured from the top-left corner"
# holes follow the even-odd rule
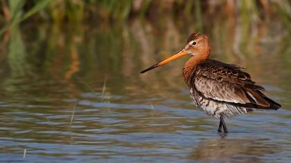
[[[202,28],[202,15],[223,9],[247,11],[248,17],[264,19],[267,15],[279,15],[283,23],[291,18],[290,1],[181,1],[181,0],[1,0],[1,23],[12,24],[32,19],[64,23],[67,21],[126,21],[131,17],[159,17],[159,15],[180,15],[195,19]],[[243,3],[245,5],[237,5]],[[36,13],[39,14],[36,15]],[[192,18],[191,18],[192,17]]]

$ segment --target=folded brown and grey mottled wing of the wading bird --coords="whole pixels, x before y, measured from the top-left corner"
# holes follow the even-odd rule
[[[261,93],[241,67],[208,59],[193,71],[192,86],[206,99],[254,108],[270,108],[272,99]],[[274,101],[272,101],[274,102]]]

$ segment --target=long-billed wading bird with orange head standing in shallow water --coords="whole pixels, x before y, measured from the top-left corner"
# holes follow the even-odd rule
[[[197,108],[220,119],[218,132],[227,133],[224,118],[243,115],[255,108],[277,110],[280,104],[265,96],[265,90],[252,81],[242,67],[209,59],[210,44],[206,35],[193,33],[177,54],[141,71],[145,73],[184,55],[191,55],[183,68],[190,96]]]

